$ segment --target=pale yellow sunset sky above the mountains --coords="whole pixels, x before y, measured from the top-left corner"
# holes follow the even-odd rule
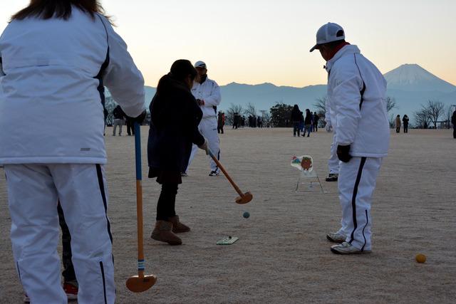
[[[0,31],[26,0],[0,0]],[[207,63],[227,83],[304,87],[326,83],[324,61],[309,53],[327,22],[386,73],[417,63],[456,85],[455,0],[104,0],[146,85],[181,58]]]

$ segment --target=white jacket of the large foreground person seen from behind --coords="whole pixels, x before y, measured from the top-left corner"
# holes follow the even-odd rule
[[[98,14],[12,21],[0,57],[0,164],[105,164],[100,80],[127,115],[145,109],[142,75]]]

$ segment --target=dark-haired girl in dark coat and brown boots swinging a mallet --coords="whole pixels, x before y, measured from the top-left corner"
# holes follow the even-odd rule
[[[197,70],[187,60],[178,60],[157,85],[150,103],[150,131],[147,143],[149,177],[157,178],[162,191],[157,201],[157,217],[152,239],[180,245],[176,234],[190,231],[175,211],[181,172],[187,168],[192,145],[208,153],[207,140],[199,133],[202,111],[192,95]]]

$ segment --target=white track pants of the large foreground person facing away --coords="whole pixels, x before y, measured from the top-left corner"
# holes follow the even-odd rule
[[[107,187],[98,164],[5,164],[14,260],[31,303],[67,303],[57,253],[60,200],[71,234],[78,303],[114,303]]]

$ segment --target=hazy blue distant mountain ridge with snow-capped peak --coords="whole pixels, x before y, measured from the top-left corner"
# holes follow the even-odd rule
[[[430,99],[440,100],[447,105],[456,103],[456,86],[438,78],[418,64],[400,65],[384,76],[388,82],[387,95],[396,100],[397,108],[392,110],[394,114],[408,114],[411,117],[421,104]],[[257,110],[269,110],[277,102],[313,109],[316,99],[326,95],[326,85],[295,88],[272,83],[229,83],[222,85],[220,89],[222,103],[219,110],[227,110],[231,104],[245,107],[248,103],[253,103]],[[155,88],[145,86],[147,105],[154,94]]]

